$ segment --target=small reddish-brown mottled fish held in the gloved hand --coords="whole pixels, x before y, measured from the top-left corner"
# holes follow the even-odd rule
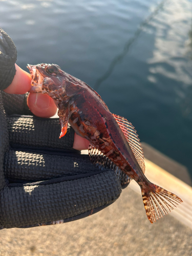
[[[61,132],[68,123],[75,133],[90,141],[93,163],[109,161],[141,188],[146,216],[156,222],[183,201],[175,194],[153,184],[146,176],[144,156],[135,127],[126,118],[112,114],[87,83],[64,72],[58,65],[41,63],[27,66],[31,76],[30,93],[48,94],[57,104]]]

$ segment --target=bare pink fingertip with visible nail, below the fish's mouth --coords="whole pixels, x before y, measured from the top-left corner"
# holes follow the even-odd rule
[[[29,109],[38,117],[49,118],[57,112],[57,107],[47,94],[30,93],[27,100]]]

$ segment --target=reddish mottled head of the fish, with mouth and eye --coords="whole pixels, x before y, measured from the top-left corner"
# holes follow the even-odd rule
[[[62,71],[56,64],[28,64],[27,68],[32,76],[30,93],[47,93],[61,101],[71,98],[83,88],[82,81]]]

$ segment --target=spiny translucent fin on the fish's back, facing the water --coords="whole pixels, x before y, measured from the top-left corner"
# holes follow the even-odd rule
[[[124,117],[118,116],[113,114],[115,117],[116,121],[118,122],[127,142],[129,143],[132,152],[139,164],[139,166],[142,169],[142,172],[145,172],[145,162],[144,162],[144,156],[143,156],[143,150],[141,147],[140,140],[138,138],[138,135],[135,131],[135,127],[127,121]]]

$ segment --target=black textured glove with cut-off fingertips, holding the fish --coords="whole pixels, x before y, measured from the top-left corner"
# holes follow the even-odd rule
[[[0,51],[2,90],[14,77],[16,48],[1,29]],[[59,139],[59,119],[33,116],[26,97],[0,92],[0,229],[69,222],[113,203],[124,176],[74,150],[70,125]]]

